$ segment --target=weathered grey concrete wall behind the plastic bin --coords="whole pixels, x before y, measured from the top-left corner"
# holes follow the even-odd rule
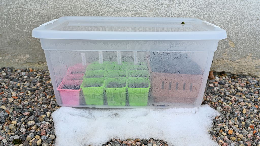
[[[259,0],[1,0],[0,67],[46,68],[32,30],[61,16],[191,17],[223,28],[212,70],[260,75]]]

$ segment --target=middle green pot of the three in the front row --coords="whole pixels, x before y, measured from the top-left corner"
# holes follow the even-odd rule
[[[105,95],[108,105],[126,105],[126,78],[107,78]]]

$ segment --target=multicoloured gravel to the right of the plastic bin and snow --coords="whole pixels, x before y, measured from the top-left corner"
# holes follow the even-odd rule
[[[212,140],[226,146],[260,146],[260,78],[220,74],[208,79],[203,104],[221,113]]]

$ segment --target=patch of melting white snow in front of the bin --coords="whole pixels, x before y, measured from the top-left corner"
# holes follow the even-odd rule
[[[208,132],[219,113],[199,108],[95,109],[61,107],[53,112],[56,146],[101,146],[111,138],[140,138],[186,146],[215,146]]]

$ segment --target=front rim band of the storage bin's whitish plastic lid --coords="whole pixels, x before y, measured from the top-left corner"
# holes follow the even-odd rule
[[[117,32],[117,31],[46,31],[34,29],[33,37],[46,39],[91,40],[220,40],[227,38],[226,31],[189,32]]]

